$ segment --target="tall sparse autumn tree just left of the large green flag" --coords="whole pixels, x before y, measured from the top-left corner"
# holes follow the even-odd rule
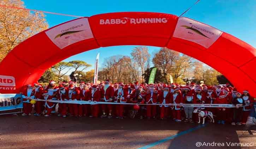
[[[135,61],[138,66],[141,68],[141,73],[144,73],[145,70],[145,63],[148,62],[150,58],[150,54],[148,52],[148,48],[146,46],[139,46],[132,50],[131,52],[132,60]],[[149,62],[146,65],[149,67]],[[143,80],[143,75],[142,75]]]

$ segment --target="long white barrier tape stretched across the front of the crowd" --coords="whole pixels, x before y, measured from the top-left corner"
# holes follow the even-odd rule
[[[233,108],[236,107],[232,104],[134,104],[134,103],[112,103],[112,102],[102,102],[102,101],[83,101],[83,100],[43,100],[43,99],[30,99],[36,101],[47,101],[53,103],[60,103],[60,104],[89,104],[89,105],[96,105],[96,104],[111,104],[111,105],[165,105],[165,106],[183,106],[183,107],[222,107],[222,108]],[[24,103],[29,103],[27,101],[23,101]]]

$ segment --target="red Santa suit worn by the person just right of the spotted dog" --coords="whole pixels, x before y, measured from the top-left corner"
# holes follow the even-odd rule
[[[224,98],[216,98],[213,102],[214,104],[228,104],[227,97]],[[227,119],[227,108],[216,108],[217,109],[217,119],[218,120],[226,120]]]

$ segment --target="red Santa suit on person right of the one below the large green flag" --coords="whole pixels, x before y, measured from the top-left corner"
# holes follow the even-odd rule
[[[169,91],[161,91],[158,96],[160,104],[169,104],[170,103],[170,94]],[[160,107],[160,118],[165,118],[167,116],[168,105],[159,105]]]

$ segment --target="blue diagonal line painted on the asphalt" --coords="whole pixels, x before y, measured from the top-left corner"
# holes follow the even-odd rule
[[[191,128],[191,129],[188,129],[188,130],[179,132],[179,133],[176,134],[176,135],[173,135],[173,136],[170,136],[170,137],[161,139],[161,140],[159,140],[159,141],[157,141],[157,142],[148,144],[148,145],[146,145],[146,146],[144,146],[144,147],[141,147],[141,148],[138,148],[138,149],[148,149],[148,148],[154,147],[154,146],[159,145],[159,144],[161,144],[161,143],[163,143],[163,142],[166,142],[166,141],[169,141],[169,140],[171,140],[171,139],[174,139],[174,138],[176,138],[176,137],[178,137],[178,136],[185,135],[185,134],[187,134],[187,133],[189,133],[189,132],[191,132],[191,131],[200,129],[200,128],[204,127],[204,126],[205,126],[204,124],[198,125],[198,126],[195,127],[195,128]]]

